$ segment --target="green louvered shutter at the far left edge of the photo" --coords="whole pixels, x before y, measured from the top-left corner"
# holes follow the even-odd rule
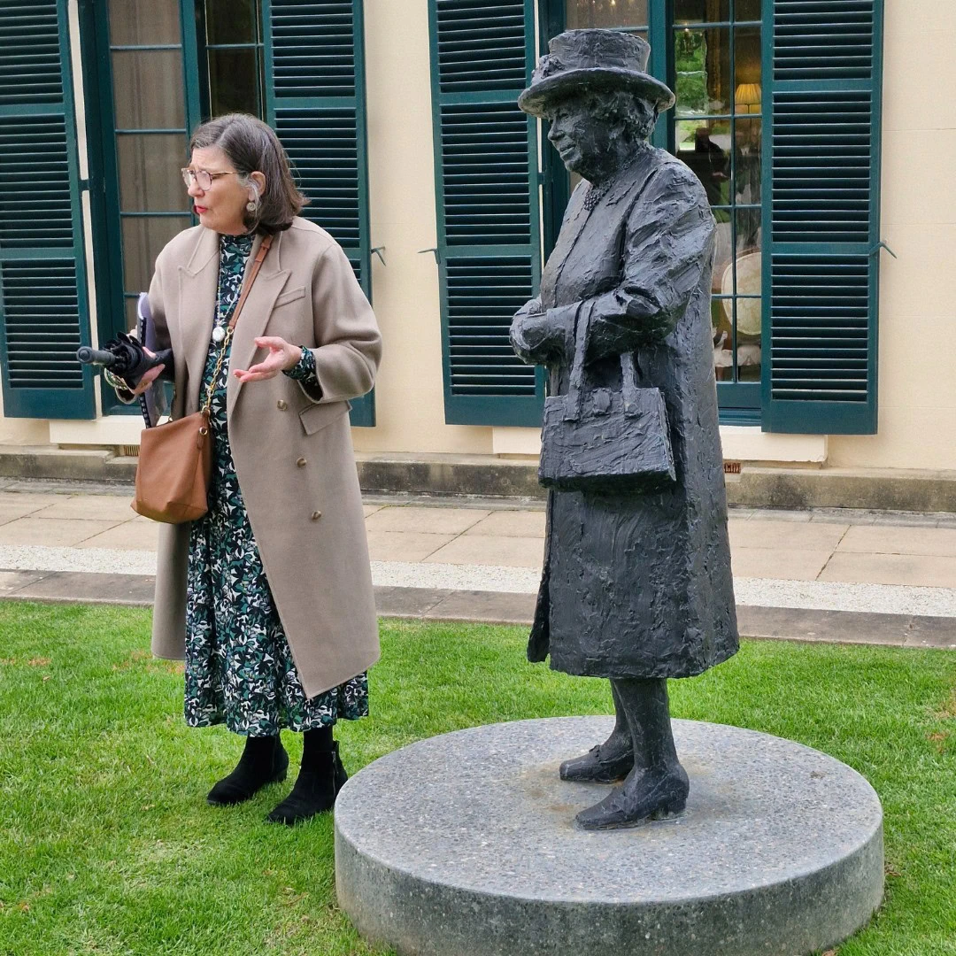
[[[89,419],[93,376],[66,0],[0,7],[0,359],[8,418]]]

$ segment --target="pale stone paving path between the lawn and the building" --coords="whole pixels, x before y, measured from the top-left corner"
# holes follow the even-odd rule
[[[0,483],[0,596],[148,600],[158,526],[129,500],[125,488]],[[544,523],[537,501],[366,498],[380,608],[530,619]],[[745,631],[956,646],[956,515],[732,509],[729,526]]]

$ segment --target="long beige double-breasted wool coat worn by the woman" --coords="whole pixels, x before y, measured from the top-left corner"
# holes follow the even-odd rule
[[[261,245],[256,237],[247,275]],[[160,253],[149,305],[161,347],[175,359],[173,418],[200,407],[212,333],[219,236],[185,229]],[[279,374],[232,376],[281,336],[315,352],[321,396]],[[229,444],[272,597],[309,697],[379,658],[349,399],[368,392],[381,354],[379,328],[345,253],[323,229],[296,218],[276,234],[236,323],[229,359]],[[153,653],[185,656],[189,525],[163,525],[153,611]]]

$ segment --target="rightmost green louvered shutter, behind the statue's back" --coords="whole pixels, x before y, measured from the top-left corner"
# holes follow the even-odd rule
[[[882,0],[765,0],[763,427],[877,430]]]

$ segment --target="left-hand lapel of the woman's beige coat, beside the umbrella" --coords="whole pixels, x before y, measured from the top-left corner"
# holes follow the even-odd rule
[[[185,359],[185,379],[189,382],[185,414],[199,407],[199,386],[206,368],[206,353],[212,335],[216,308],[216,286],[219,277],[219,236],[211,229],[202,229],[192,255],[180,266],[179,341]],[[182,387],[179,356],[177,385]]]

